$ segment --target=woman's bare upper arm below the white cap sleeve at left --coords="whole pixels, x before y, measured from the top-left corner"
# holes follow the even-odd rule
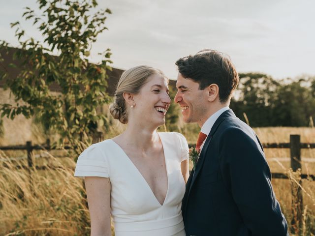
[[[85,177],[84,181],[91,215],[91,236],[111,236],[109,178]]]

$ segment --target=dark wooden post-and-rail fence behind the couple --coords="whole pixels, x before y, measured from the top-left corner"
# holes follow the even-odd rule
[[[97,138],[99,139],[99,137]],[[267,143],[262,144],[263,148],[290,148],[290,167],[293,172],[298,171],[299,169],[302,171],[301,165],[301,149],[302,148],[315,148],[315,143],[301,143],[300,135],[290,135],[290,143]],[[47,139],[46,144],[44,145],[34,145],[32,146],[32,142],[26,142],[26,145],[17,145],[17,146],[6,146],[0,147],[1,150],[26,150],[27,151],[27,160],[28,166],[19,166],[17,168],[36,168],[37,170],[45,170],[45,166],[33,166],[32,161],[32,151],[33,150],[62,150],[60,148],[52,148],[50,146],[50,140]],[[71,147],[65,146],[63,149],[71,149]],[[284,173],[272,173],[273,178],[284,178],[288,179],[290,177]],[[300,226],[302,225],[303,218],[303,197],[302,197],[302,179],[308,178],[310,180],[315,181],[315,175],[306,175],[301,174],[301,179],[298,181],[291,181],[292,186],[292,196],[296,196],[292,198],[292,225],[298,223]]]

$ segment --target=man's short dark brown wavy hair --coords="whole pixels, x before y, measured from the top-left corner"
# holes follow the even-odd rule
[[[217,84],[221,102],[228,101],[239,81],[229,56],[215,50],[202,50],[196,55],[178,59],[175,64],[184,78],[199,84],[199,90]]]

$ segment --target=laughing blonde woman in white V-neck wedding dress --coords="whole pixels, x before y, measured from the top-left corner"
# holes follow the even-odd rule
[[[91,236],[185,236],[181,201],[188,179],[188,144],[179,133],[158,133],[171,100],[158,69],[123,73],[110,106],[126,131],[94,144],[78,158],[85,177]]]

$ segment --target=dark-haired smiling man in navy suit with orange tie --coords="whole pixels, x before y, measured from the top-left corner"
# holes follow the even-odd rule
[[[201,150],[182,203],[188,236],[288,236],[263,148],[229,109],[238,74],[227,56],[203,50],[177,60],[175,102],[201,127]]]

